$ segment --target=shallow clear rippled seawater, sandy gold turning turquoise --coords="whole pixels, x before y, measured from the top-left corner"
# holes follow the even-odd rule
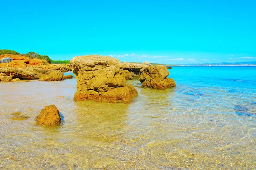
[[[176,88],[127,81],[131,104],[74,102],[76,79],[0,83],[0,169],[255,169],[256,67],[169,72]],[[35,125],[50,104],[62,125]]]

